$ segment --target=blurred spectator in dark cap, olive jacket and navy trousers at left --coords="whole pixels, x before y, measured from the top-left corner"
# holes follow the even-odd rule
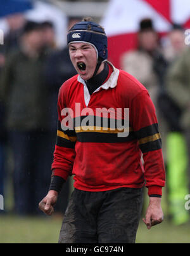
[[[19,49],[7,57],[1,75],[0,100],[6,109],[6,129],[13,149],[15,210],[20,215],[40,213],[38,203],[46,194],[51,175],[42,46],[41,25],[27,22]]]

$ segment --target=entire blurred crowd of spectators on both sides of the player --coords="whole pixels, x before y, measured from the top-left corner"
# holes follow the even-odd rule
[[[71,19],[68,27],[77,22]],[[8,17],[9,32],[0,47],[0,194],[13,180],[18,215],[38,215],[46,195],[56,140],[57,97],[66,79],[76,74],[67,46],[58,49],[54,25],[23,15]],[[155,104],[167,171],[167,199],[174,224],[189,220],[184,196],[189,193],[190,48],[184,30],[174,24],[160,39],[153,21],[139,24],[136,50],[121,57],[121,68],[148,89]],[[9,162],[13,170],[9,170]],[[56,211],[65,211],[70,181]]]

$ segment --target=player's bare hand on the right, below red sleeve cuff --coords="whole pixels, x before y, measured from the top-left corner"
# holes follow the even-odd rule
[[[163,212],[161,198],[149,198],[149,205],[146,211],[146,217],[143,219],[148,229],[163,222]]]

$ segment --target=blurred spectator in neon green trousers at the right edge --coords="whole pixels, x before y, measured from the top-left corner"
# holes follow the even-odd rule
[[[172,31],[172,34],[176,32],[179,33],[179,30]],[[181,40],[179,41],[182,40],[184,40],[183,33],[181,33]],[[181,55],[177,54],[175,61],[170,64],[166,81],[168,95],[172,99],[173,106],[170,109],[172,121],[171,118],[168,118],[170,122],[170,133],[168,133],[167,138],[168,198],[172,222],[176,225],[189,220],[189,213],[184,208],[184,197],[189,194],[190,48],[185,48],[186,46],[183,44]]]

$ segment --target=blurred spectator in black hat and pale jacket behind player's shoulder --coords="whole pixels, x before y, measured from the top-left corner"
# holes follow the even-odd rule
[[[156,107],[160,133],[162,135],[163,157],[165,159],[165,132],[167,126],[162,112],[158,109],[158,95],[164,86],[167,62],[163,57],[158,34],[149,18],[141,20],[137,34],[137,50],[128,51],[122,56],[122,69],[136,77],[149,91]]]

